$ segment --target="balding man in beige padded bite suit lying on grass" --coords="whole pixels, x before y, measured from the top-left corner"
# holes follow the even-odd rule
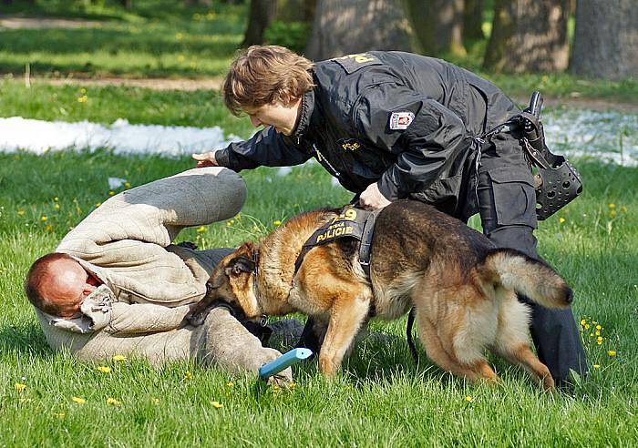
[[[171,241],[185,227],[231,218],[245,196],[237,174],[204,168],[108,199],[27,274],[26,295],[46,341],[88,360],[131,355],[161,365],[194,359],[233,371],[257,372],[278,357],[227,309],[211,311],[201,328],[183,324],[190,304],[206,293],[215,264],[232,250]],[[279,336],[292,327],[291,321],[279,324]],[[282,373],[291,379],[289,369]]]

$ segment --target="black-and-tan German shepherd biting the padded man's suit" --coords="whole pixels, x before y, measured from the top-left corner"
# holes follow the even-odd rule
[[[240,308],[249,319],[301,311],[327,326],[319,370],[332,376],[370,317],[393,320],[414,306],[418,336],[442,369],[473,382],[496,382],[484,356],[489,348],[546,390],[554,387],[547,366],[530,350],[530,310],[516,297],[519,292],[544,307],[568,307],[571,289],[550,266],[518,250],[497,249],[433,207],[398,200],[376,218],[371,280],[359,264],[355,239],[314,247],[295,274],[306,239],[339,213],[303,213],[260,244],[244,243],[213,270],[210,293],[188,321],[201,323],[215,301]]]

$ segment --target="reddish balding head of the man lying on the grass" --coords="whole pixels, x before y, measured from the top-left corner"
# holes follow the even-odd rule
[[[77,260],[66,253],[53,252],[41,257],[26,274],[26,297],[39,310],[61,317],[79,311],[87,295],[99,281]]]

